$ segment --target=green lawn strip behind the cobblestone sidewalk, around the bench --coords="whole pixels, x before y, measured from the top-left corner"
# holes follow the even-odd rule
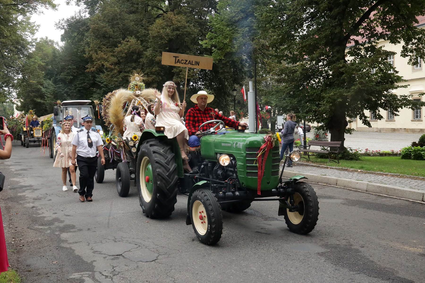
[[[359,161],[340,160],[341,164],[334,162],[328,163],[327,159],[311,157],[313,163],[328,165],[334,167],[347,167],[352,169],[360,169],[366,171],[377,171],[385,173],[395,173],[411,176],[425,177],[425,161],[424,160],[408,160],[401,159],[397,156],[382,157],[363,157]],[[302,160],[303,162],[305,159]]]

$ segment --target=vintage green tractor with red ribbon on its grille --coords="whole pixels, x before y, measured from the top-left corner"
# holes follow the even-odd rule
[[[226,130],[220,120],[204,124],[208,123],[216,125],[202,133],[200,150],[190,151],[190,173],[183,172],[176,138],[168,139],[163,127],[144,130],[136,157],[136,185],[143,213],[150,218],[168,217],[174,211],[177,193],[185,194],[189,197],[186,224],[192,224],[202,243],[212,245],[223,231],[221,210],[237,213],[253,201],[276,200],[278,215],[284,217],[289,230],[311,232],[319,216],[316,193],[300,181],[306,179],[303,176],[282,179],[278,141],[266,157],[258,194],[257,152],[265,135],[245,133],[241,127]],[[292,151],[287,158],[297,162],[300,153]]]

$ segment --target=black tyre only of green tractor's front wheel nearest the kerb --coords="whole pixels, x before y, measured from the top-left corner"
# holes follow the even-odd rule
[[[297,234],[305,235],[312,232],[317,224],[317,220],[319,219],[319,201],[317,200],[316,192],[314,192],[313,187],[306,182],[296,182],[295,192],[303,197],[303,219],[299,224],[293,224],[288,218],[286,209],[284,210],[283,217],[285,218],[289,230]]]

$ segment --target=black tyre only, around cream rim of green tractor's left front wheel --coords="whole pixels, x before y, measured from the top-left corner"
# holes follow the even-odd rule
[[[202,202],[207,213],[208,229],[205,235],[200,235],[196,231],[193,221],[192,209],[193,203],[196,200]],[[199,241],[209,246],[217,244],[217,242],[220,241],[221,235],[223,234],[223,216],[221,215],[220,205],[210,190],[198,189],[193,192],[192,198],[190,199],[190,218],[193,230]]]

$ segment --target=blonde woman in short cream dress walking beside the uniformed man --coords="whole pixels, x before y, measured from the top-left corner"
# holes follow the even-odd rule
[[[56,159],[53,167],[62,168],[62,191],[68,191],[66,187],[66,179],[68,168],[71,173],[72,191],[77,192],[78,188],[75,185],[77,179],[75,175],[75,166],[71,164],[71,150],[72,150],[72,139],[74,138],[75,132],[71,131],[71,122],[65,121],[62,123],[62,131],[59,132],[56,139],[55,149],[57,151]]]

